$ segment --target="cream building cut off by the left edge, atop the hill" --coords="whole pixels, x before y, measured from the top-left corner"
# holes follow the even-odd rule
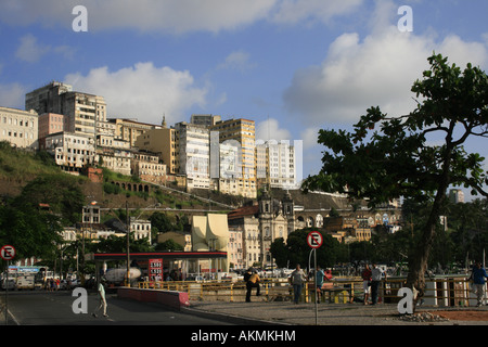
[[[0,141],[22,149],[37,150],[38,114],[35,111],[0,107]]]

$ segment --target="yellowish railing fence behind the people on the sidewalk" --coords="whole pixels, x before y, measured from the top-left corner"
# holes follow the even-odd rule
[[[401,299],[398,297],[398,290],[404,284],[404,278],[389,278],[382,281],[378,301],[398,303]],[[139,287],[187,292],[190,300],[244,301],[246,295],[246,285],[243,281],[140,282]],[[333,304],[362,303],[364,294],[360,279],[334,279],[325,282],[320,292],[322,301]],[[255,293],[256,288],[253,288],[253,295]],[[287,301],[293,299],[293,287],[286,279],[264,279],[260,283],[260,294],[262,300]],[[301,301],[313,303],[314,296],[313,282],[307,282],[301,291]],[[441,277],[426,280],[422,303],[426,306],[475,306],[476,297],[471,292],[466,277]]]

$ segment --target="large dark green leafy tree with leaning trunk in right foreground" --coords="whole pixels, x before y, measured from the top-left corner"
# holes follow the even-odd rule
[[[416,108],[389,117],[371,107],[352,132],[320,130],[325,145],[321,171],[309,177],[304,191],[320,189],[369,198],[370,205],[401,196],[431,202],[420,237],[409,256],[408,286],[416,299],[424,293],[427,261],[449,185],[465,187],[488,196],[484,158],[467,153],[468,138],[488,137],[488,78],[478,67],[464,70],[433,54],[431,68],[416,80],[412,92]]]

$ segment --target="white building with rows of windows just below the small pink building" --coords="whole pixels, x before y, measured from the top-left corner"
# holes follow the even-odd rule
[[[94,165],[95,149],[92,137],[73,132],[56,132],[46,137],[46,150],[54,156],[63,170],[79,174],[87,165]]]

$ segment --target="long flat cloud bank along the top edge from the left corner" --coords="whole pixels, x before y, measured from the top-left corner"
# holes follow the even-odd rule
[[[40,23],[44,27],[70,29],[73,8],[88,11],[88,30],[130,28],[140,31],[183,34],[195,30],[219,33],[258,21],[275,24],[329,22],[349,14],[364,0],[3,0],[0,22],[11,25]]]

